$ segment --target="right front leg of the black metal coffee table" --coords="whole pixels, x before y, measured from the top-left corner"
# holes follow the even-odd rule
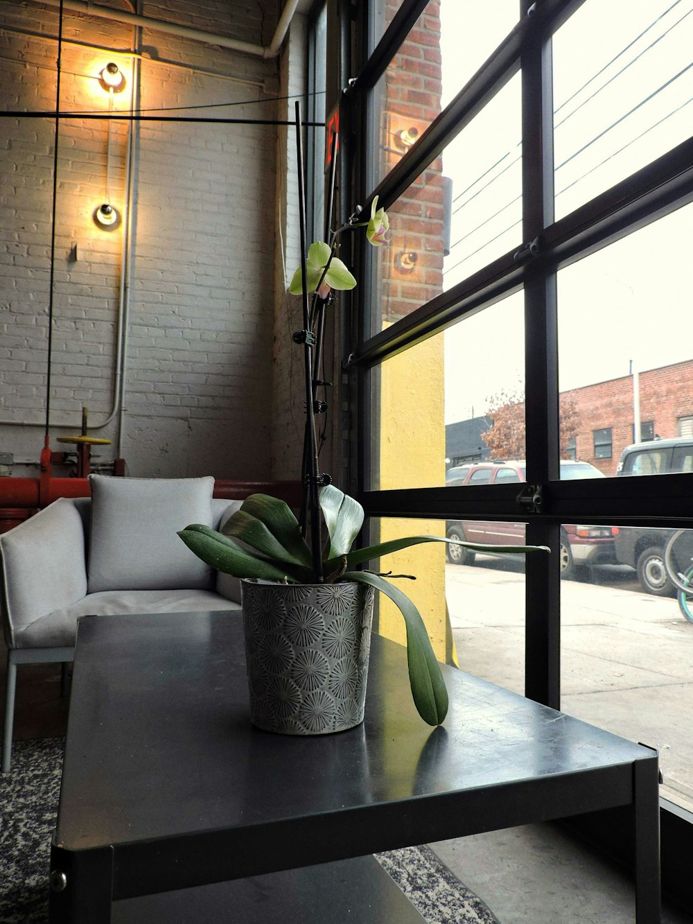
[[[660,796],[657,758],[633,764],[633,816],[635,836],[636,920],[660,924]]]

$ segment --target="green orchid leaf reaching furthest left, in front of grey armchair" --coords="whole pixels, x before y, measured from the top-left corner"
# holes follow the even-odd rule
[[[265,580],[286,578],[301,583],[310,580],[306,568],[271,562],[259,555],[242,549],[237,542],[223,536],[216,529],[201,523],[192,523],[178,533],[190,552],[195,553],[207,565],[234,577],[262,577]]]

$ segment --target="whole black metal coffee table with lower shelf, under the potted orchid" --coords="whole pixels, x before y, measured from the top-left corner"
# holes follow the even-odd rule
[[[51,924],[413,924],[373,852],[617,806],[634,818],[637,920],[658,922],[656,753],[444,677],[432,729],[406,651],[374,637],[365,722],[278,736],[249,724],[237,615],[80,620]]]

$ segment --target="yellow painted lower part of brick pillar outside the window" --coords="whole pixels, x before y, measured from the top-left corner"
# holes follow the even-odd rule
[[[433,487],[444,484],[443,337],[428,340],[387,359],[381,366],[380,488]],[[380,541],[400,536],[444,535],[444,521],[381,520]],[[381,560],[383,570],[415,575],[395,580],[416,604],[439,661],[454,662],[445,608],[444,543],[413,546]],[[380,595],[380,632],[404,643],[405,625],[394,603]]]

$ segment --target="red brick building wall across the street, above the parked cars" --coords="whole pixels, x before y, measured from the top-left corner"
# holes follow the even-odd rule
[[[666,439],[678,436],[678,421],[693,416],[693,359],[640,372],[640,421],[654,422],[654,432]],[[572,397],[581,420],[577,458],[591,462],[605,475],[614,475],[621,451],[633,442],[633,377],[626,375],[563,392]],[[610,459],[594,458],[594,430],[612,428]]]

